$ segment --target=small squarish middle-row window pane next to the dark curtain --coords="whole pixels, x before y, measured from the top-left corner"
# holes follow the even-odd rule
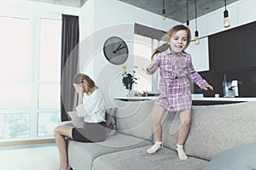
[[[61,88],[59,84],[41,84],[39,86],[39,108],[60,108]]]

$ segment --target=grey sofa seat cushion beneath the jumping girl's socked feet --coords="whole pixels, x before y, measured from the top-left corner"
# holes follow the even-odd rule
[[[203,170],[208,163],[195,157],[180,161],[176,151],[165,147],[155,154],[148,154],[148,147],[150,146],[99,156],[93,162],[93,170]]]

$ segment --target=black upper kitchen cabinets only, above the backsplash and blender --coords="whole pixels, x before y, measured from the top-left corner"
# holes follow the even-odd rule
[[[256,67],[256,22],[209,37],[211,71],[237,71]]]

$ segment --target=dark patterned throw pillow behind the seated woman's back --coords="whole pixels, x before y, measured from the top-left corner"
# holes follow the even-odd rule
[[[106,109],[106,134],[107,136],[115,135],[116,132],[116,107]]]

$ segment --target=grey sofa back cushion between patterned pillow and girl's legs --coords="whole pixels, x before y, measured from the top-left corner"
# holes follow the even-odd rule
[[[121,101],[113,100],[117,107],[117,130],[141,139],[153,140],[151,111],[154,100]]]

